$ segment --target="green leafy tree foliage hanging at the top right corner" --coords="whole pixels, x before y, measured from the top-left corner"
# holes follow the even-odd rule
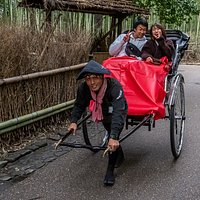
[[[199,0],[136,0],[135,4],[149,8],[164,24],[188,22],[193,15],[199,14]]]

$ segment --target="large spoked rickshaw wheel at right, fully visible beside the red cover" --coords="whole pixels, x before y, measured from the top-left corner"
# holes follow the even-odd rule
[[[170,140],[174,158],[180,156],[185,129],[185,95],[182,79],[179,79],[174,91],[174,102],[169,110]]]

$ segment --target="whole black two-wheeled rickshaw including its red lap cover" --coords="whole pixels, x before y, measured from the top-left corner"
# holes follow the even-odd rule
[[[154,91],[156,91],[157,89],[160,90],[161,86],[163,88],[163,91],[160,90],[161,93],[157,92],[155,93],[156,97],[155,96],[153,97],[155,99],[159,99],[159,103],[155,104],[155,102],[153,103],[151,102],[151,105],[149,107],[148,103],[146,103],[145,100],[141,101],[141,98],[138,103],[136,101],[137,94],[134,94],[135,95],[134,98],[136,99],[132,99],[131,96],[134,93],[134,91],[132,91],[132,87],[135,86],[133,84],[132,84],[133,86],[127,84],[129,82],[126,81],[123,82],[124,80],[130,80],[129,79],[130,77],[128,78],[126,76],[134,74],[135,73],[134,70],[136,68],[138,70],[138,66],[140,68],[143,68],[145,64],[141,63],[144,63],[144,61],[135,61],[134,59],[130,58],[126,59],[109,58],[104,61],[103,66],[107,67],[111,71],[112,76],[114,78],[117,78],[122,83],[122,86],[124,86],[125,96],[126,93],[130,94],[131,96],[127,97],[129,98],[128,106],[134,107],[133,108],[134,112],[136,110],[135,112],[136,114],[132,111],[128,113],[126,118],[125,128],[120,135],[119,142],[121,143],[122,141],[124,141],[127,137],[136,132],[136,130],[138,130],[141,126],[147,126],[148,130],[151,131],[152,127],[155,127],[155,120],[169,119],[171,151],[174,158],[177,159],[180,156],[183,147],[183,138],[184,138],[183,136],[184,136],[185,120],[186,120],[184,77],[181,73],[178,72],[178,66],[180,64],[181,59],[184,56],[185,51],[188,48],[188,42],[190,37],[179,30],[167,30],[166,34],[167,38],[171,39],[174,42],[176,48],[172,60],[171,70],[167,73],[162,74],[163,77],[162,80],[156,80],[157,87],[154,88]],[[147,38],[148,37],[149,36],[147,35]],[[139,63],[139,65],[133,69],[133,66],[135,65],[136,62]],[[129,66],[129,68],[124,67],[125,65]],[[148,67],[149,66],[147,66],[147,68]],[[124,68],[126,69],[124,70]],[[134,73],[132,73],[132,71],[130,72],[129,70],[134,71]],[[156,73],[159,79],[159,77],[161,77],[159,74],[160,72],[158,71]],[[141,75],[140,72],[139,74]],[[145,78],[144,75],[145,73],[141,75],[142,76],[141,79],[149,79],[149,77]],[[138,77],[138,74],[133,76]],[[154,77],[155,74],[151,74],[150,72],[150,76],[151,76],[150,80],[155,79]],[[147,83],[146,85],[149,84]],[[139,85],[138,88],[141,88],[141,86],[142,85]],[[147,88],[147,90],[149,90],[150,93],[152,93],[151,88]],[[143,96],[145,96],[146,98],[146,96],[149,96],[149,94],[146,94],[145,91],[145,94]],[[150,98],[150,101],[152,101],[152,98]],[[136,104],[132,105],[132,102],[136,102]],[[139,105],[141,102],[142,104]],[[129,105],[129,103],[131,105]],[[77,143],[76,141],[75,142],[64,141],[71,134],[70,132],[68,132],[57,143],[55,143],[55,147],[57,148],[59,145],[64,145],[73,148],[86,148],[91,150],[92,152],[98,152],[100,150],[105,151],[107,149],[106,144],[109,137],[108,133],[105,131],[103,126],[98,126],[98,128],[96,128],[96,125],[94,124],[94,122],[92,122],[90,117],[91,113],[89,110],[87,110],[84,113],[82,119],[78,122],[78,126],[81,127],[81,131],[83,133],[83,140],[85,144]]]

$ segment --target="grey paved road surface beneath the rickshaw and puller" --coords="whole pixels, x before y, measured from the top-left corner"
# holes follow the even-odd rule
[[[151,132],[142,127],[122,144],[126,160],[116,184],[102,184],[107,159],[102,152],[73,149],[0,194],[2,200],[197,200],[200,199],[200,66],[180,66],[185,77],[186,134],[173,160],[169,120]]]

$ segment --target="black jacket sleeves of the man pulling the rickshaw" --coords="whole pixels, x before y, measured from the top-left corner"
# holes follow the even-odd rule
[[[110,137],[118,138],[122,131],[127,114],[127,103],[121,84],[113,78],[107,79],[107,89],[103,97],[102,112],[104,119],[111,117],[111,133]],[[89,106],[92,96],[89,87],[83,82],[78,90],[74,108],[71,115],[71,122],[77,123],[84,113],[86,107]]]

